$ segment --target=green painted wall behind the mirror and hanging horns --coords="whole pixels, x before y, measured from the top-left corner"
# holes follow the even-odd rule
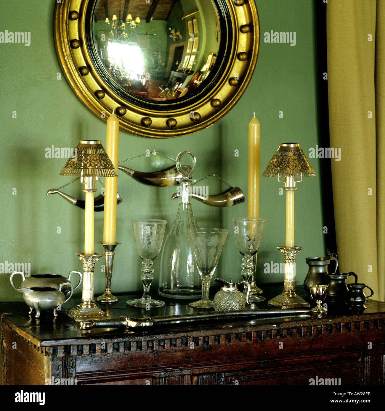
[[[33,273],[67,275],[81,269],[75,252],[83,251],[83,210],[57,195],[46,196],[70,178],[61,177],[66,159],[46,158],[46,148],[75,147],[79,139],[100,139],[105,144],[106,125],[77,99],[61,72],[53,44],[52,21],[55,2],[14,0],[2,8],[0,31],[31,32],[31,44],[0,44],[0,196],[2,219],[0,263],[30,263]],[[261,46],[257,68],[244,96],[225,118],[212,127],[176,139],[154,140],[120,134],[120,160],[145,150],[158,150],[176,157],[190,150],[197,157],[195,178],[218,173],[239,185],[247,194],[248,122],[255,111],[261,123],[261,173],[281,141],[299,141],[305,153],[318,144],[317,97],[315,90],[315,50],[313,1],[257,0],[261,24]],[[23,19],[20,19],[23,16]],[[297,33],[296,46],[265,44],[263,33]],[[16,111],[16,118],[12,113]],[[278,112],[283,111],[283,118]],[[234,156],[239,150],[239,157]],[[126,163],[131,168],[150,171],[171,164],[160,156],[141,157]],[[312,159],[315,172],[319,160]],[[211,193],[226,189],[214,178],[205,180]],[[98,187],[102,187],[98,185]],[[265,262],[281,263],[276,246],[285,241],[285,196],[275,179],[261,178],[260,216],[266,218],[264,239],[259,252],[259,283],[283,282],[282,274],[264,274]],[[16,195],[12,194],[16,189]],[[65,192],[81,196],[80,183]],[[174,189],[147,187],[121,174],[118,192],[117,241],[113,291],[139,291],[140,259],[132,238],[132,218],[164,218],[171,225],[178,204],[171,201]],[[303,251],[297,259],[297,282],[307,272],[306,256],[324,255],[320,178],[307,178],[296,192],[296,245]],[[232,217],[247,213],[246,203],[231,208],[212,208],[193,200],[193,210],[201,226],[232,229]],[[103,215],[95,220],[95,241],[102,240]],[[60,227],[61,233],[57,233]],[[102,252],[100,245],[95,251]],[[160,259],[155,260],[155,280]],[[230,232],[216,276],[240,279],[241,256]],[[104,274],[98,263],[95,293],[104,289]],[[77,290],[80,295],[80,290]],[[9,274],[0,274],[0,300],[21,300],[9,284]]]

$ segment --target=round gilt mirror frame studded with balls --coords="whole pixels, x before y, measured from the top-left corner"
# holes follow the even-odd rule
[[[67,82],[81,102],[104,122],[115,111],[121,131],[151,138],[178,137],[214,124],[243,95],[255,70],[260,45],[254,0],[213,0],[216,8],[224,13],[227,25],[225,57],[209,85],[188,99],[172,100],[166,105],[124,98],[100,75],[95,67],[88,28],[89,10],[96,1],[57,3],[54,37]]]

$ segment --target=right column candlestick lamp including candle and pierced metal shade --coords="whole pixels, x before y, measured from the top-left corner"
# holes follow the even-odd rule
[[[285,177],[286,190],[286,244],[277,247],[285,260],[285,280],[283,293],[272,298],[270,305],[280,308],[310,307],[310,305],[295,293],[295,256],[302,247],[294,245],[294,191],[297,182],[302,177],[314,177],[315,172],[308,162],[299,143],[280,143],[265,171],[264,177]],[[295,181],[295,178],[301,178]]]

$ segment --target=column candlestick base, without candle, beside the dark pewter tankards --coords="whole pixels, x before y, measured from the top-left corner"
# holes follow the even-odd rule
[[[283,280],[283,293],[272,298],[270,305],[279,308],[299,308],[310,307],[304,299],[295,293],[295,256],[302,250],[302,247],[277,247],[283,253],[285,260],[285,278]]]

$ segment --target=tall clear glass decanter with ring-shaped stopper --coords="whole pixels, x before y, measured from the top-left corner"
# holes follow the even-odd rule
[[[178,178],[179,210],[163,244],[160,257],[158,292],[162,297],[178,299],[199,299],[202,296],[202,282],[191,249],[189,230],[198,230],[191,210],[192,173],[195,156],[182,151],[176,157],[176,168],[183,176]]]

